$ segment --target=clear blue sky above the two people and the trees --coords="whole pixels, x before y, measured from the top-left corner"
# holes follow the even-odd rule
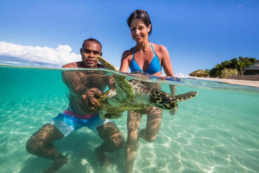
[[[126,19],[136,9],[149,13],[149,40],[167,47],[175,74],[239,56],[259,59],[259,1],[1,1],[0,42],[79,54],[83,40],[92,37],[102,43],[103,57],[119,67],[123,51],[135,45]]]

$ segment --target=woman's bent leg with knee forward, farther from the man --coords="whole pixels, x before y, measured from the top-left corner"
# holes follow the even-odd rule
[[[161,126],[162,114],[163,109],[153,107],[147,113],[147,125],[145,129],[139,131],[139,137],[147,142],[154,142]]]

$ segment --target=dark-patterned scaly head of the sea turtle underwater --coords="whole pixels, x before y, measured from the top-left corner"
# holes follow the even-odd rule
[[[174,96],[153,88],[149,93],[150,106],[159,107],[165,110],[174,110],[178,108],[177,100]]]

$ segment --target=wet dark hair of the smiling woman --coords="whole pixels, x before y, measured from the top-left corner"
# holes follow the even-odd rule
[[[128,17],[127,19],[127,24],[129,27],[133,19],[140,19],[146,25],[146,27],[151,25],[149,15],[145,10],[135,10],[133,13],[131,13],[130,17]],[[148,32],[148,37],[150,36],[151,33],[152,33],[152,25],[151,25],[150,31]]]

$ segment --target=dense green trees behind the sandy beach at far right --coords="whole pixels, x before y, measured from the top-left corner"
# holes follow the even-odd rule
[[[226,75],[228,75],[229,73],[234,73],[233,69],[236,70],[237,75],[242,75],[243,74],[243,70],[242,68],[246,68],[252,64],[257,63],[259,60],[256,60],[256,58],[249,58],[249,57],[239,57],[237,58],[233,58],[231,60],[226,60],[224,62],[221,62],[220,64],[216,64],[214,68],[212,68],[211,70],[209,70],[208,73],[210,73],[211,77],[215,78],[219,78],[219,77],[223,77],[225,78]],[[228,70],[228,69],[232,69]],[[207,69],[206,69],[207,70]],[[232,74],[234,75],[234,74]]]

